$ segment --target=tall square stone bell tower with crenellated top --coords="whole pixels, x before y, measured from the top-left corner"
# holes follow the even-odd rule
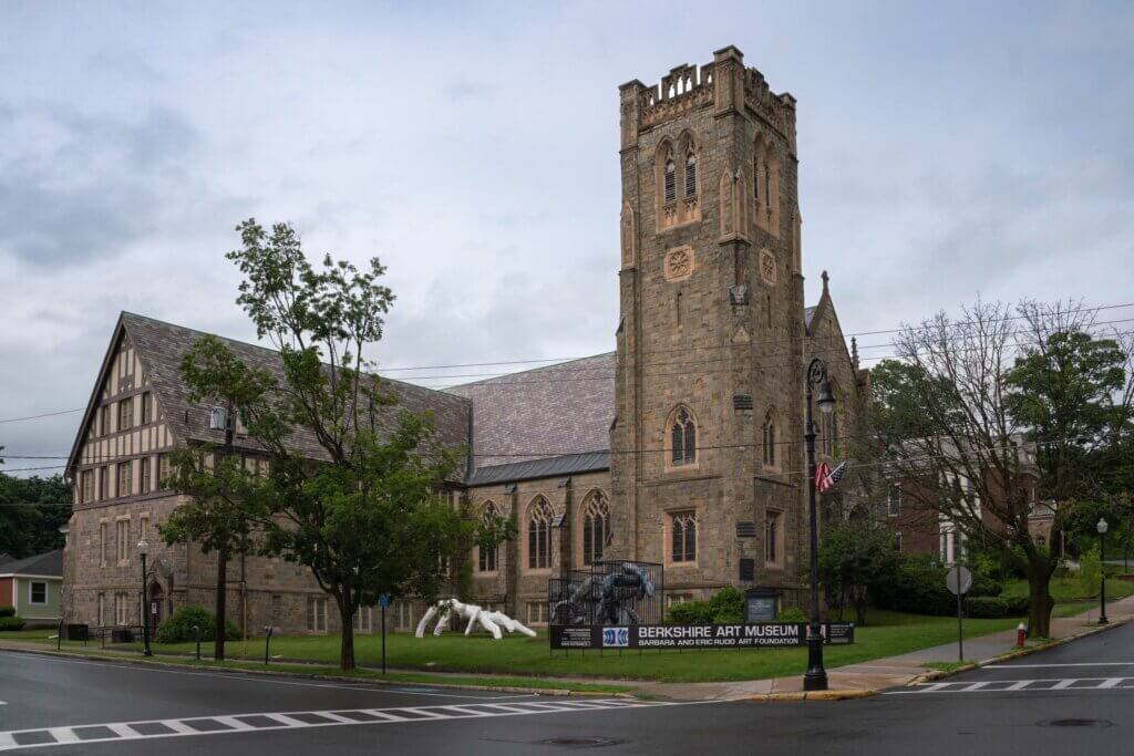
[[[799,598],[803,278],[789,94],[728,46],[619,87],[618,553]]]

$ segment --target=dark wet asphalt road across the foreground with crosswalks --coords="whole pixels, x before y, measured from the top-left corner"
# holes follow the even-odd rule
[[[1134,625],[936,685],[837,703],[665,704],[0,653],[0,749],[8,742],[14,748],[3,753],[60,756],[1125,753],[1134,734]],[[35,745],[46,742],[54,745]]]

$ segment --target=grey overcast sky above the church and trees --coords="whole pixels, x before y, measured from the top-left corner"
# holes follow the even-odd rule
[[[8,1],[0,419],[83,406],[121,309],[251,340],[253,215],[389,266],[383,366],[612,349],[617,86],[727,44],[798,99],[844,330],[1134,300],[1128,2]],[[66,453],[78,417],[0,444]]]

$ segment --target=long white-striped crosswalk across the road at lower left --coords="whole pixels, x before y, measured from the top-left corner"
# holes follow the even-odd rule
[[[462,702],[460,705],[397,706],[390,708],[356,708],[311,712],[249,712],[215,716],[192,716],[175,720],[137,722],[100,722],[70,727],[37,728],[0,732],[0,751],[24,747],[44,748],[77,742],[149,740],[185,738],[231,732],[256,732],[361,724],[396,724],[401,722],[435,722],[473,717],[523,716],[526,714],[567,714],[594,710],[644,708],[650,706],[686,706],[691,704],[601,698],[592,700],[540,700],[509,704]],[[218,729],[220,728],[220,729]],[[112,733],[107,736],[107,732]]]

